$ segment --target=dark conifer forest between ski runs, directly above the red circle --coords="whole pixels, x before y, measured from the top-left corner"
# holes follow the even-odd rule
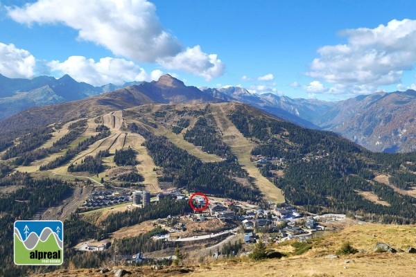
[[[243,186],[234,179],[246,178],[250,184],[247,172],[237,161],[202,163],[187,151],[177,148],[164,136],[155,136],[135,123],[128,125],[128,128],[130,132],[144,136],[144,146],[148,149],[148,154],[156,166],[163,168],[163,177],[159,177],[159,181],[171,181],[178,188],[186,187],[189,191],[202,191],[237,200],[259,201],[258,188],[254,185]]]

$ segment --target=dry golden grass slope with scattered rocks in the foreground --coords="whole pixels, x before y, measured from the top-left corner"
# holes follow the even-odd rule
[[[127,276],[413,276],[414,253],[375,253],[377,242],[385,242],[395,249],[406,251],[414,242],[409,236],[415,235],[415,226],[386,226],[365,224],[349,226],[339,233],[312,240],[313,247],[302,255],[290,255],[281,259],[252,262],[248,258],[214,260],[206,258],[203,262],[187,260],[184,267],[116,267],[129,271]],[[352,242],[361,253],[328,258],[335,255],[343,242]],[[283,253],[290,253],[289,244],[269,246]],[[113,267],[108,267],[112,269]],[[58,269],[52,274],[33,274],[31,276],[102,276],[101,269]]]

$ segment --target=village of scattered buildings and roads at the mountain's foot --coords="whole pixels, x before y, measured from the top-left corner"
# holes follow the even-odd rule
[[[98,190],[87,198],[83,206],[91,209],[123,203],[128,205],[128,209],[141,208],[156,204],[164,197],[173,197],[177,200],[186,199],[188,201],[191,198],[192,206],[203,210],[179,216],[169,215],[166,218],[153,220],[155,226],[161,226],[167,232],[153,235],[152,239],[162,240],[166,243],[198,243],[220,240],[218,244],[221,244],[228,240],[230,236],[238,234],[243,238],[242,242],[244,244],[254,244],[259,238],[263,242],[272,244],[279,244],[285,240],[304,241],[312,238],[316,231],[324,230],[324,224],[321,224],[321,222],[345,220],[345,215],[302,213],[288,204],[268,202],[266,207],[261,208],[258,205],[238,202],[233,199],[203,197],[201,195],[192,196],[180,189],[171,190],[168,193],[157,193],[156,195],[151,195],[144,190]],[[224,224],[222,228],[209,232],[196,231],[190,233],[188,226],[192,222],[223,222]],[[111,246],[111,242],[111,239],[98,242],[81,242],[76,246],[76,249],[79,251],[104,251]],[[159,257],[158,259],[161,258],[175,257]],[[144,253],[132,253],[128,256],[119,257],[119,259],[128,263],[145,260]],[[157,259],[157,257],[153,259]]]

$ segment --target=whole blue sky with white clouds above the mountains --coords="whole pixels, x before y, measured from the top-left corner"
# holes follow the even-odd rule
[[[416,89],[413,0],[0,0],[0,73],[343,100]]]

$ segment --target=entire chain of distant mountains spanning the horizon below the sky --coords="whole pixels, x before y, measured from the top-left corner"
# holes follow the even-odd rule
[[[90,97],[92,98],[89,101],[82,100]],[[49,117],[52,123],[65,118],[76,118],[85,113],[96,116],[107,111],[109,105],[119,105],[123,109],[147,103],[243,102],[303,127],[337,132],[372,151],[416,150],[416,113],[413,108],[416,104],[416,91],[413,90],[374,93],[338,102],[326,102],[293,99],[273,93],[250,93],[242,87],[198,89],[185,86],[171,75],[163,75],[157,81],[126,83],[119,87],[114,84],[94,87],[85,82],[76,82],[69,75],[60,79],[40,76],[32,80],[10,79],[0,75],[0,118],[17,114],[28,107],[71,100],[80,102],[51,107],[44,114],[44,120]],[[71,109],[65,108],[63,113],[51,112],[62,107]],[[12,121],[5,120],[0,123],[0,127],[15,126],[14,123],[10,125],[10,122],[17,118],[21,122],[33,124],[33,111],[29,109],[23,114],[12,116]],[[91,114],[92,111],[98,114]],[[42,121],[42,115],[40,117],[37,120]]]

